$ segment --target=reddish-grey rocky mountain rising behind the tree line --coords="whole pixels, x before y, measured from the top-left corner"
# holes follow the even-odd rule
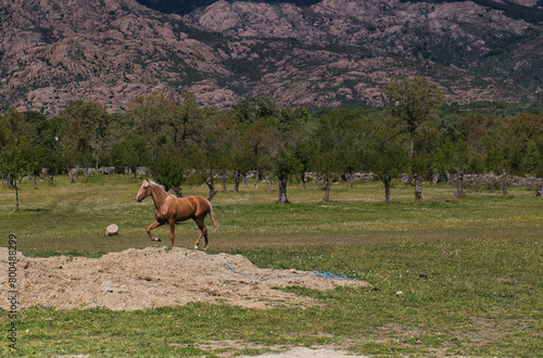
[[[0,0],[0,111],[126,110],[192,92],[380,105],[393,77],[449,102],[541,99],[543,0]]]

